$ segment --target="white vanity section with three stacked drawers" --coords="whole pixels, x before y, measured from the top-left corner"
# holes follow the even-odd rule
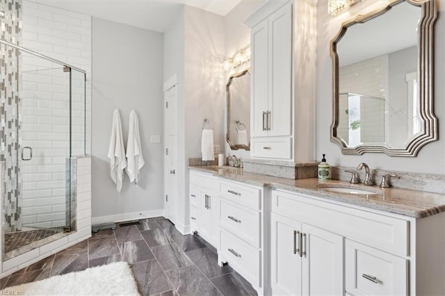
[[[268,222],[264,227],[263,188],[234,181],[220,183],[218,262],[229,263],[259,295],[268,294]],[[266,212],[267,213],[267,212]]]

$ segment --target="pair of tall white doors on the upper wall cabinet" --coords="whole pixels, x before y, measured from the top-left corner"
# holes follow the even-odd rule
[[[291,135],[292,8],[252,27],[252,137]]]

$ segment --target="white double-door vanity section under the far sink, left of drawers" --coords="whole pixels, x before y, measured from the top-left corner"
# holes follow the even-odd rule
[[[190,173],[191,231],[197,231],[213,246],[218,246],[220,242],[219,186],[219,180],[214,176],[194,171]]]

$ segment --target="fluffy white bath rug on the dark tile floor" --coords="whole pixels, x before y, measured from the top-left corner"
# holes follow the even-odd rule
[[[8,295],[139,295],[127,262],[56,275],[41,281],[4,288]]]

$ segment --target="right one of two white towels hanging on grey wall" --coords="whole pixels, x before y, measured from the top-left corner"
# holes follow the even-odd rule
[[[140,134],[138,115],[135,110],[131,110],[129,117],[128,141],[127,141],[127,174],[130,183],[135,181],[136,185],[140,180],[140,169],[144,166],[144,156],[140,149]]]

